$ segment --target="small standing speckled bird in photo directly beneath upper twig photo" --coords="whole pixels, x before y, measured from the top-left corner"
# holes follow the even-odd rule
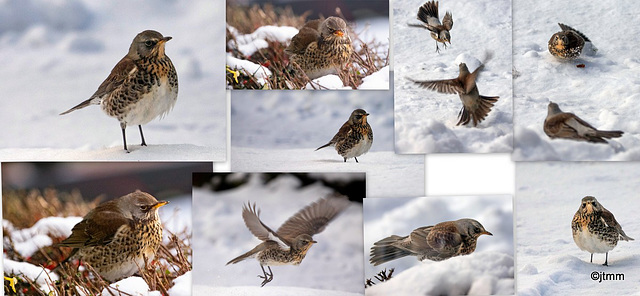
[[[315,151],[334,146],[338,154],[344,158],[344,162],[352,157],[358,162],[358,156],[367,153],[373,144],[373,130],[367,122],[368,116],[369,113],[363,109],[353,110],[349,120],[340,127],[331,141]]]

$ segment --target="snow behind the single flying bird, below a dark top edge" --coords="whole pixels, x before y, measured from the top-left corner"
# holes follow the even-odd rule
[[[264,288],[260,288],[261,279],[257,276],[262,271],[255,259],[225,265],[260,243],[242,220],[242,207],[248,201],[257,204],[263,223],[277,229],[298,210],[333,192],[319,183],[299,186],[298,179],[290,175],[279,176],[264,185],[255,174],[249,183],[232,190],[212,192],[194,188],[194,295],[363,293],[362,205],[359,203],[352,203],[313,237],[318,243],[309,249],[299,266],[271,267],[274,278]]]

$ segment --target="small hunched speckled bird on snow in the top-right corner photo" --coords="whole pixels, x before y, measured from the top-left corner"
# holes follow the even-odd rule
[[[579,57],[585,44],[591,43],[591,40],[565,24],[558,23],[558,26],[562,31],[553,34],[549,39],[549,53],[559,59],[570,60]]]

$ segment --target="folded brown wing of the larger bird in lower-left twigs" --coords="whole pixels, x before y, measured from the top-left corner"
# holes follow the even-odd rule
[[[100,246],[111,242],[120,227],[133,227],[133,220],[125,218],[120,212],[108,210],[115,204],[106,202],[89,212],[85,218],[71,230],[71,235],[58,246],[80,248]]]

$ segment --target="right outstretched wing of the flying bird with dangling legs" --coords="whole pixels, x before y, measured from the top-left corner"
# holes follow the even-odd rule
[[[320,199],[289,218],[278,228],[277,233],[288,240],[293,240],[301,234],[318,234],[349,204],[349,200],[344,196]]]

